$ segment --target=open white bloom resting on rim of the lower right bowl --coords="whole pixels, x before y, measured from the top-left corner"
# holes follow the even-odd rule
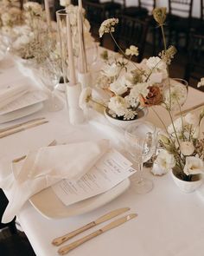
[[[203,174],[204,164],[203,161],[195,156],[186,157],[186,164],[183,168],[183,172],[187,175],[190,174]]]

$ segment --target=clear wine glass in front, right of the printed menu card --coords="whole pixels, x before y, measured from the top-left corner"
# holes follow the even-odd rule
[[[131,159],[137,162],[140,177],[132,177],[137,194],[146,194],[153,188],[153,182],[143,178],[143,163],[156,150],[156,128],[150,122],[137,121],[125,129],[125,148]]]

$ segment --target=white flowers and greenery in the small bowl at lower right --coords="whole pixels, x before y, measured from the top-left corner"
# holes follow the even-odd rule
[[[191,181],[193,174],[204,174],[204,139],[200,139],[201,121],[204,109],[199,116],[188,113],[173,121],[167,129],[168,135],[160,136],[163,151],[175,160],[177,175],[183,181]],[[158,161],[161,164],[160,154]],[[164,172],[167,171],[164,170]]]

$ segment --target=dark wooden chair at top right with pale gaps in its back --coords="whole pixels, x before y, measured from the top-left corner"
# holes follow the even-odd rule
[[[181,39],[185,39],[184,48],[188,49],[189,34],[192,23],[192,10],[194,0],[169,0],[169,44],[174,38],[175,46],[182,46]]]

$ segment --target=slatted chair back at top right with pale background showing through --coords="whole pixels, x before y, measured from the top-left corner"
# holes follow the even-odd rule
[[[192,17],[194,0],[169,0],[169,15]]]

